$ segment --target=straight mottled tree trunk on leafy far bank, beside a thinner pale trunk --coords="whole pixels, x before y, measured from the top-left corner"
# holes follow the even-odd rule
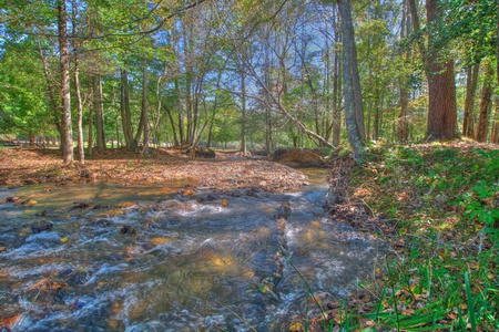
[[[71,124],[70,54],[68,48],[68,18],[65,0],[58,1],[59,56],[61,62],[62,100],[62,156],[64,164],[73,163],[73,137]]]

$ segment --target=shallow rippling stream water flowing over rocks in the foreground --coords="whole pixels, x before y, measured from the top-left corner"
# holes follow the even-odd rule
[[[325,215],[326,173],[304,173],[310,186],[272,195],[183,195],[183,181],[0,190],[0,200],[20,198],[0,204],[0,323],[287,331],[309,309],[304,279],[338,299],[380,255],[374,238]]]

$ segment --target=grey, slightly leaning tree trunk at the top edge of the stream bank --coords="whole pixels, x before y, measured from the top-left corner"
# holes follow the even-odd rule
[[[349,0],[338,0],[339,14],[342,15],[342,30],[343,30],[343,77],[344,77],[344,97],[345,97],[345,120],[347,125],[348,139],[354,153],[354,159],[360,163],[363,159],[363,136],[359,131],[359,123],[356,113],[356,93],[360,91],[356,90],[358,86],[354,84],[355,80],[353,75],[358,74],[358,71],[354,66],[356,61],[353,59],[356,56],[355,52],[355,34],[354,24],[352,22],[352,7]],[[361,105],[361,104],[360,104]]]

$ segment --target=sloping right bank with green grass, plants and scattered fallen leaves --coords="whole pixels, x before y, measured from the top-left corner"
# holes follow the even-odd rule
[[[369,312],[342,331],[498,331],[499,151],[471,143],[371,146],[349,172],[349,201],[390,243],[363,287]]]

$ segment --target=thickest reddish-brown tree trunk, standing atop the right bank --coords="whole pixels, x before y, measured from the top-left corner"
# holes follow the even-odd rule
[[[444,60],[435,44],[434,24],[438,23],[438,0],[427,0],[428,37],[428,139],[452,139],[457,137],[456,83],[454,60]],[[438,45],[441,48],[441,45]]]

